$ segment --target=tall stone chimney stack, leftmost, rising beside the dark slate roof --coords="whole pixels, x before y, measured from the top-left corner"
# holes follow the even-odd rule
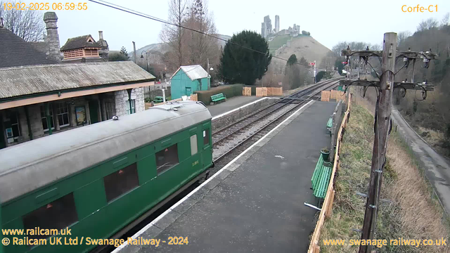
[[[45,38],[46,44],[49,47],[49,51],[47,55],[49,58],[61,61],[61,51],[59,44],[59,35],[58,35],[58,26],[56,22],[58,22],[58,16],[54,12],[46,12],[44,13],[44,22],[46,25],[47,36]]]

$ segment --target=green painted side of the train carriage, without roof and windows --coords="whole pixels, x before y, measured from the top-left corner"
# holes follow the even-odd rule
[[[4,228],[23,228],[22,216],[24,214],[73,192],[79,221],[70,226],[71,237],[84,237],[84,240],[86,237],[108,238],[210,167],[212,148],[211,145],[203,147],[202,133],[203,129],[211,128],[211,122],[205,122],[199,126],[201,127],[180,131],[119,157],[113,157],[94,168],[86,169],[77,175],[20,197],[20,199],[4,203],[2,211],[6,210],[6,216],[1,216],[0,223],[4,224]],[[189,139],[192,134],[198,134],[198,153],[191,156]],[[212,143],[211,136],[209,138]],[[163,142],[167,139],[170,139],[171,143],[178,143],[179,164],[156,176],[155,150],[162,148],[165,145]],[[200,161],[202,158],[203,162]],[[139,186],[107,203],[103,177],[134,162],[137,162],[138,165]],[[35,201],[38,196],[44,196],[41,197],[39,204]],[[30,248],[19,246],[8,247],[4,253],[75,253],[88,252],[90,249],[91,247],[85,243],[70,247],[46,245]]]

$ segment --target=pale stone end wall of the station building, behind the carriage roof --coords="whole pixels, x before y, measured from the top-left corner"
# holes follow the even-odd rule
[[[127,115],[128,111],[128,92],[115,91],[115,113],[117,116]],[[131,91],[131,99],[134,99],[134,111],[142,112],[145,110],[144,100],[143,100],[143,88],[136,88]]]

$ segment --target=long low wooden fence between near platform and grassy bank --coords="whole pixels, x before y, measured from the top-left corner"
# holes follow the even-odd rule
[[[344,134],[345,126],[347,125],[347,121],[350,113],[350,103],[352,100],[352,94],[349,94],[347,100],[347,110],[345,111],[344,118],[342,119],[342,123],[340,124],[340,129],[338,132],[338,136],[336,136],[336,150],[335,150],[335,159],[333,163],[333,171],[331,172],[330,183],[328,183],[328,190],[326,191],[325,200],[323,200],[323,205],[321,212],[319,214],[319,220],[317,221],[316,228],[314,229],[314,233],[311,238],[311,242],[309,243],[308,253],[319,253],[319,238],[321,235],[321,229],[323,223],[325,222],[325,218],[331,216],[331,209],[333,207],[333,200],[335,198],[335,190],[333,189],[335,183],[335,173],[339,169],[339,154],[340,147],[342,143],[342,136]]]

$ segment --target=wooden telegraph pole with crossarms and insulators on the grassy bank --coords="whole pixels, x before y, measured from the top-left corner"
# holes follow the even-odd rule
[[[397,56],[397,54],[399,56]],[[350,48],[342,51],[342,56],[347,56],[348,65],[350,64],[350,56],[359,56],[368,61],[371,56],[378,56],[382,58],[380,81],[368,82],[366,79],[356,79],[356,80],[341,80],[342,85],[352,85],[352,86],[376,86],[379,89],[378,100],[375,108],[375,138],[373,140],[373,154],[372,154],[372,165],[371,165],[371,176],[369,179],[367,202],[366,202],[366,212],[364,213],[364,223],[361,230],[361,240],[373,240],[376,220],[381,193],[381,184],[383,183],[383,167],[386,161],[386,151],[387,151],[387,136],[389,136],[391,126],[391,110],[392,110],[392,94],[394,89],[411,89],[420,90],[423,93],[427,91],[433,91],[434,86],[432,84],[413,83],[413,78],[411,83],[408,82],[394,82],[395,75],[395,62],[397,58],[404,58],[404,67],[407,67],[410,61],[416,63],[417,59],[423,59],[425,67],[428,67],[430,60],[434,60],[437,55],[426,52],[413,52],[409,51],[399,51],[397,52],[397,34],[393,32],[385,33],[383,40],[383,51],[351,51]],[[403,67],[402,67],[403,68]],[[375,70],[374,70],[375,71]],[[371,252],[371,245],[361,245],[359,247],[359,253]]]

